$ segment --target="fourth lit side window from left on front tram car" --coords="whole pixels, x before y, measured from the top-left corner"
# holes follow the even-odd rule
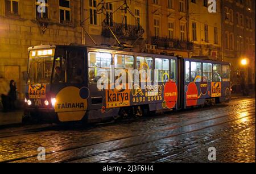
[[[169,59],[155,59],[156,82],[167,82],[170,80]]]

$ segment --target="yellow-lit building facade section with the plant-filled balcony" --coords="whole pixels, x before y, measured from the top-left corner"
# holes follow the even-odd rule
[[[128,45],[133,51],[144,51],[147,33],[145,0],[88,0],[82,3],[85,44]]]

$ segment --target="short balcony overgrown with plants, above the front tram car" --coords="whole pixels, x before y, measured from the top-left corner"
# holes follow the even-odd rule
[[[144,29],[141,26],[138,27],[129,24],[113,22],[110,28],[114,32],[115,36],[121,39],[135,40],[141,38],[144,34]],[[101,35],[105,38],[113,37],[111,31],[105,23],[102,23]]]

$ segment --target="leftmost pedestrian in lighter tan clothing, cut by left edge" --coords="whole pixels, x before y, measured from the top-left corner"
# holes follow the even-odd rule
[[[9,91],[10,86],[8,85],[8,82],[5,78],[0,76],[0,96],[1,96],[1,102],[3,106],[3,112],[7,112],[9,109]]]

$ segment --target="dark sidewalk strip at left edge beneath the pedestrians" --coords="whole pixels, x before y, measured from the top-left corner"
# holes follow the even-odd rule
[[[16,125],[22,123],[23,110],[3,113],[0,111],[0,127],[4,125]]]

